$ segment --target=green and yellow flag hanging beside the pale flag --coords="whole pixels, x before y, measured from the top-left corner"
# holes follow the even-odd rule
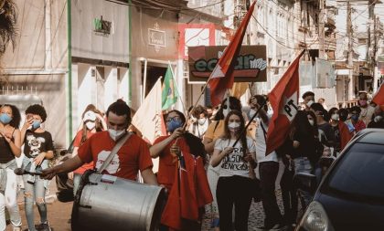
[[[172,74],[171,66],[168,66],[165,72],[165,79],[162,89],[162,110],[167,110],[176,103],[178,92],[176,89],[175,79]]]

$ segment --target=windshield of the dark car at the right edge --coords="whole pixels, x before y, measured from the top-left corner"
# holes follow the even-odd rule
[[[329,189],[369,199],[384,199],[383,151],[384,145],[353,145],[328,176]]]

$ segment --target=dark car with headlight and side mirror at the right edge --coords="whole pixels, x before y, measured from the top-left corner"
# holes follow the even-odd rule
[[[317,188],[308,173],[294,183],[315,193],[296,231],[384,230],[384,130],[358,132]]]

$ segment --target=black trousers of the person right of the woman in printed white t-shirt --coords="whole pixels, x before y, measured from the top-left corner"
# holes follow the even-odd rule
[[[264,209],[264,226],[272,227],[283,223],[283,216],[276,201],[275,182],[279,173],[279,163],[261,162],[259,163],[261,201]]]

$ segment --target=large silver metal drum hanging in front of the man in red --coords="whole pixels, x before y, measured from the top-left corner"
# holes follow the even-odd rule
[[[157,230],[165,201],[162,187],[85,172],[72,208],[72,230]]]

